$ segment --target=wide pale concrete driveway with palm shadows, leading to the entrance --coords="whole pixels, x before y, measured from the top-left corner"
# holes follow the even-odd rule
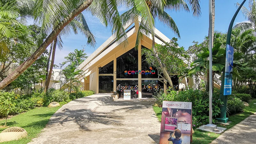
[[[152,99],[109,100],[95,94],[62,106],[30,144],[159,143],[160,122]]]

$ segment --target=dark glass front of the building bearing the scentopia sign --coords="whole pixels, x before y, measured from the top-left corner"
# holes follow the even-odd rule
[[[146,48],[142,46],[142,48]],[[116,58],[116,71],[114,72],[114,60],[99,69],[99,93],[110,93],[117,91],[119,98],[123,98],[124,90],[130,89],[131,95],[135,95],[139,90],[138,75],[132,71],[154,71],[154,74],[140,74],[141,75],[141,97],[151,98],[157,92],[164,91],[164,84],[158,80],[156,68],[152,67],[145,60],[145,55],[141,55],[141,69],[138,69],[139,64],[138,51],[135,48],[125,52],[123,55]],[[129,73],[127,73],[130,71]],[[116,81],[114,76],[116,75]],[[162,78],[161,78],[162,79]],[[172,76],[172,83],[175,90],[179,90],[178,76]],[[116,84],[114,84],[116,83]],[[116,85],[114,87],[114,85]],[[169,85],[167,85],[168,87]]]

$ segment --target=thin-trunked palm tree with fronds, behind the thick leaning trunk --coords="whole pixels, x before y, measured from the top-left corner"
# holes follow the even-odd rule
[[[62,18],[63,16],[65,16],[65,14],[68,13],[70,9],[70,7],[68,9],[64,9],[62,7],[65,6],[65,4],[60,4],[58,6],[58,9],[62,9],[62,11],[61,13],[59,13],[59,11],[47,9],[47,7],[51,7],[51,6],[52,6],[51,3],[48,3],[47,1],[44,1],[44,0],[38,0],[38,3],[36,3],[35,5],[35,12],[34,12],[35,20],[37,23],[42,24],[39,37],[42,37],[41,35],[47,35],[49,31],[52,31],[55,25],[58,24],[58,22],[60,21],[59,18]],[[54,13],[54,15],[52,15],[52,13]],[[55,15],[58,15],[58,17],[55,17]],[[52,19],[52,20],[49,21],[49,19]],[[95,37],[93,36],[92,32],[88,28],[84,15],[80,13],[61,31],[61,33],[57,36],[57,38],[51,44],[50,52],[47,60],[47,67],[46,67],[46,75],[45,75],[46,85],[44,90],[45,92],[48,90],[48,87],[50,84],[52,68],[53,68],[53,63],[55,58],[56,45],[58,44],[59,48],[61,49],[62,48],[61,36],[69,36],[72,33],[72,31],[75,34],[78,34],[78,30],[80,30],[81,33],[87,37],[87,44],[93,47],[95,46],[96,44]],[[51,60],[51,65],[49,70],[51,53],[52,53],[52,60]]]

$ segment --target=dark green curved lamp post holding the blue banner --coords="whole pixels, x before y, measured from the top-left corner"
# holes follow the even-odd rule
[[[233,28],[233,24],[234,21],[236,19],[236,16],[238,14],[238,12],[240,11],[240,9],[242,8],[242,6],[244,5],[246,0],[244,0],[240,6],[238,7],[238,9],[236,10],[236,13],[234,14],[229,27],[228,27],[228,34],[227,34],[227,41],[226,41],[226,50],[225,50],[225,56],[226,56],[226,51],[227,51],[227,44],[230,45],[230,39],[231,39],[231,32],[232,32],[232,28]],[[220,87],[220,99],[224,102],[223,105],[220,105],[220,116],[219,118],[216,118],[219,122],[222,123],[227,123],[228,122],[228,118],[226,117],[226,111],[227,111],[227,100],[228,100],[228,96],[227,95],[223,95],[224,94],[224,81],[225,81],[225,68],[223,68],[222,70],[222,77],[221,77],[221,87]]]

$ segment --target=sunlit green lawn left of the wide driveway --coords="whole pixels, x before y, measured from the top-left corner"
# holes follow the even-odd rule
[[[60,106],[61,107],[61,106]],[[34,108],[20,115],[13,116],[7,120],[7,126],[19,126],[28,132],[28,137],[20,140],[3,142],[1,144],[26,144],[32,138],[38,136],[45,125],[48,123],[50,117],[60,108],[40,107]],[[5,120],[0,120],[0,125],[4,125]],[[0,132],[4,129],[0,128]]]

